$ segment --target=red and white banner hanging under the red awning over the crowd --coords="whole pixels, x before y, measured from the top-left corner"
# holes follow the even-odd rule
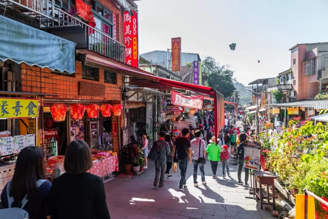
[[[172,90],[171,104],[188,108],[202,109],[204,96],[188,97]]]

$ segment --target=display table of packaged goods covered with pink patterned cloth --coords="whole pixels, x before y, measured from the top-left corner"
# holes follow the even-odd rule
[[[92,150],[92,168],[89,173],[97,175],[104,179],[108,174],[119,171],[118,157],[113,151]],[[46,173],[48,178],[56,178],[65,172],[64,170],[65,156],[49,157],[45,162]]]

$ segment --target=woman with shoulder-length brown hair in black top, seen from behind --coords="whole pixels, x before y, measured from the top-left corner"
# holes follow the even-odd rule
[[[71,142],[65,153],[66,173],[54,179],[50,189],[51,219],[110,219],[102,179],[91,173],[89,145]]]

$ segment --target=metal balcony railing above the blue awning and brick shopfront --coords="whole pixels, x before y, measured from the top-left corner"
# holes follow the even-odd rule
[[[108,58],[112,58],[121,63],[125,63],[125,45],[114,40],[109,35],[97,30],[78,18],[70,15],[66,11],[56,8],[54,1],[49,0],[32,0],[32,4],[29,5],[28,2],[31,0],[26,0],[22,5],[21,1],[15,2],[13,0],[0,0],[0,4],[6,5],[6,7],[11,7],[17,9],[25,14],[28,14],[35,19],[39,20],[40,27],[68,27],[68,26],[80,26],[85,31],[85,40],[87,42],[86,48],[92,50],[100,55],[104,55]],[[41,8],[41,6],[43,6]],[[48,6],[48,7],[45,7]]]

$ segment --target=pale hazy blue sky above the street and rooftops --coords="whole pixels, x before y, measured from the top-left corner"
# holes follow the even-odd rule
[[[289,69],[297,43],[328,41],[328,0],[141,0],[139,52],[171,48],[213,56],[243,84]],[[231,51],[230,43],[236,43]],[[260,60],[260,63],[257,63]]]

